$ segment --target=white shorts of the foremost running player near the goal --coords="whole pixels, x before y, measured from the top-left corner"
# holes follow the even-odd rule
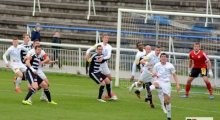
[[[162,89],[164,94],[167,94],[169,97],[171,95],[171,84],[169,81],[165,82],[165,81],[159,81],[156,80],[154,82],[157,82],[159,84],[159,88]]]

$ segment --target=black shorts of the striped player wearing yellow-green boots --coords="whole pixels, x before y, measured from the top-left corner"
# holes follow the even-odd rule
[[[36,74],[32,72],[32,70],[28,69],[26,72],[26,78],[30,85],[32,85],[34,82],[37,82],[38,85],[40,85],[43,80]]]

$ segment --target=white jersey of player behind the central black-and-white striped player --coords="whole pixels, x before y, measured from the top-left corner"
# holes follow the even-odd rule
[[[111,57],[111,54],[112,54],[112,46],[107,44],[107,45],[104,45],[103,42],[100,42],[98,44],[95,44],[93,47],[89,48],[86,53],[89,54],[92,50],[95,50],[96,47],[98,45],[101,45],[103,50],[102,50],[102,54],[104,55],[104,60],[108,60],[110,59]]]

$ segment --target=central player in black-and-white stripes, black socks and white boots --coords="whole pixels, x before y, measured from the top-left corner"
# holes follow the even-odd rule
[[[103,47],[101,45],[97,45],[97,53],[94,53],[91,58],[88,59],[88,62],[90,63],[89,67],[89,76],[92,78],[97,84],[100,84],[99,88],[99,94],[98,94],[98,101],[99,102],[106,102],[105,100],[102,100],[102,94],[106,85],[108,98],[110,100],[117,100],[117,98],[111,96],[111,85],[110,80],[106,75],[102,74],[100,72],[100,66],[103,62],[105,62],[107,59],[103,59],[102,50]]]

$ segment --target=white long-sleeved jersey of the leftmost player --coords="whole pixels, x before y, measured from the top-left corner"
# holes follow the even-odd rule
[[[10,64],[21,62],[21,50],[28,51],[25,47],[18,45],[17,47],[11,46],[3,55],[5,63],[8,63],[7,56],[10,55]]]

